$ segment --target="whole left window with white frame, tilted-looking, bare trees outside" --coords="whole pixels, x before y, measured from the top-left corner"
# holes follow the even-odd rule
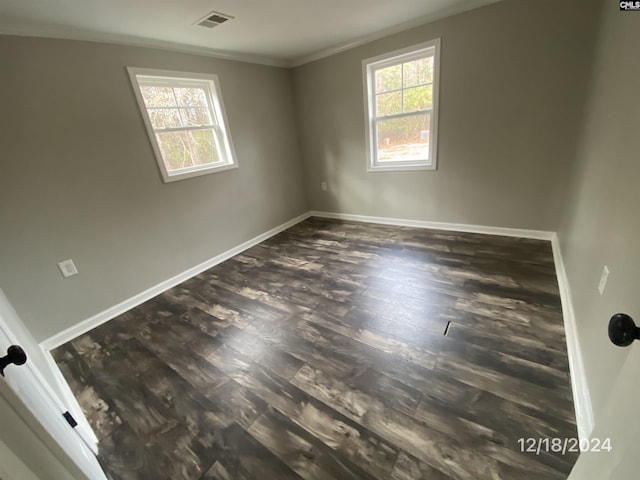
[[[237,168],[217,75],[128,70],[165,182]]]

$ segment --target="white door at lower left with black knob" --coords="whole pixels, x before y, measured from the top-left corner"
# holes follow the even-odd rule
[[[11,328],[19,321],[15,310],[0,290],[0,357],[6,355],[11,345],[21,345],[26,354],[24,365],[8,365],[4,370],[5,382],[31,411],[44,429],[60,445],[62,450],[71,458],[78,468],[91,480],[106,480],[106,476],[91,449],[76,433],[63,417],[66,411],[59,398],[48,388],[41,373],[29,362],[30,352],[37,347],[33,337],[26,331],[18,332]],[[39,352],[33,352],[38,355]]]

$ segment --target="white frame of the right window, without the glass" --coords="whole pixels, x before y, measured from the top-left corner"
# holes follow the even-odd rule
[[[429,125],[429,158],[406,162],[378,162],[377,120],[375,72],[404,62],[433,55],[433,90]],[[438,100],[440,93],[440,38],[412,45],[362,61],[362,79],[364,93],[365,138],[368,172],[389,172],[402,170],[436,170],[438,165]],[[416,112],[411,112],[415,114]],[[406,115],[406,114],[399,114]],[[380,118],[394,118],[387,116]]]

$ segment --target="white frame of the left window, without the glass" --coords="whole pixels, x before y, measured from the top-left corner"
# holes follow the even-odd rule
[[[149,136],[156,161],[158,162],[158,167],[160,168],[160,173],[162,174],[162,178],[164,179],[165,183],[238,168],[235,149],[233,147],[231,133],[229,132],[228,127],[229,122],[227,121],[227,115],[224,109],[224,103],[222,102],[222,95],[220,93],[220,81],[218,80],[217,75],[135,67],[127,67],[127,71],[129,73],[129,78],[131,79],[131,85],[133,86],[136,100],[138,102],[138,107],[140,108],[144,124],[147,128],[147,134]],[[141,85],[144,86],[145,84],[148,85],[150,83],[156,84],[158,86],[197,86],[204,88],[207,96],[207,104],[212,120],[212,125],[207,127],[176,127],[171,129],[154,129],[153,125],[151,124],[151,119],[149,118],[149,112],[144,103],[144,98],[142,97],[142,93],[140,91]],[[179,170],[167,170],[165,161],[162,157],[162,151],[160,150],[160,146],[158,145],[158,141],[156,139],[156,132],[187,131],[198,130],[201,128],[213,129],[214,141],[216,143],[220,161],[205,165],[185,167]]]

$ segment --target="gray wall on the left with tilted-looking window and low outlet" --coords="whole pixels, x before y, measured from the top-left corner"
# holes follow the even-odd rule
[[[307,210],[289,70],[11,36],[0,65],[0,288],[38,341]],[[127,66],[217,73],[240,168],[164,184]]]

